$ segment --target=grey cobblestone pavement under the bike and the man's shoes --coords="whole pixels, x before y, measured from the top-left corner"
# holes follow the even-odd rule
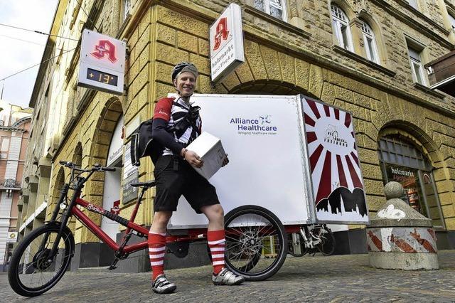
[[[50,291],[26,299],[0,274],[1,302],[455,302],[455,250],[439,252],[441,270],[377,270],[368,255],[291,257],[267,281],[215,287],[210,266],[168,270],[177,292],[154,294],[149,273],[67,272]]]

